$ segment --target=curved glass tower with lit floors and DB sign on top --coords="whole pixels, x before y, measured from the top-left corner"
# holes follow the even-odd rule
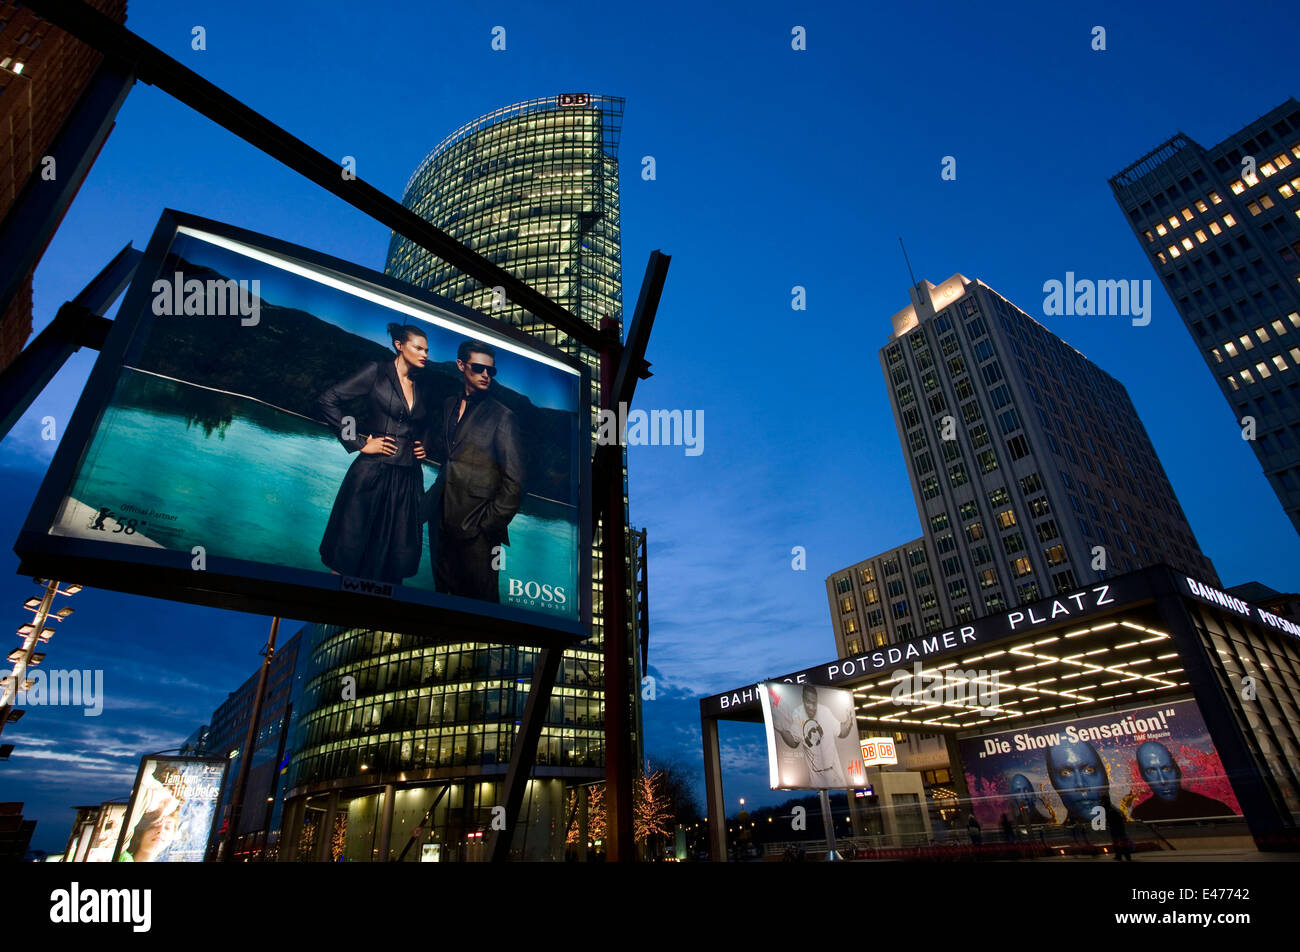
[[[403,204],[593,326],[606,317],[621,326],[621,99],[585,94],[498,109],[438,143],[412,176]],[[540,326],[400,235],[393,237],[385,271],[585,362],[593,371],[595,432],[593,351]],[[630,532],[628,538],[625,577],[636,579],[644,545]],[[566,652],[560,666],[523,822],[512,834],[521,858],[563,858],[575,825],[576,839],[588,840],[585,787],[604,779],[603,644],[610,633],[598,549],[592,577],[593,637]],[[619,594],[628,598],[627,616],[637,619],[633,594]],[[644,624],[618,636],[634,648],[637,631]],[[282,851],[282,858],[484,858],[537,652],[486,641],[434,648],[428,639],[330,626],[313,627],[304,650],[309,668],[286,808],[286,828],[303,835],[296,856]],[[352,696],[341,691],[344,679],[354,679]],[[636,661],[625,683],[618,702],[632,707],[630,723],[638,724]],[[640,752],[640,728],[634,744]]]

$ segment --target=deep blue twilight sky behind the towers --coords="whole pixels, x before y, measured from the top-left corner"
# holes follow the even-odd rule
[[[876,352],[918,278],[1154,278],[1108,177],[1182,130],[1209,146],[1295,95],[1295,29],[1222,4],[546,4],[133,0],[127,26],[399,198],[460,124],[556,92],[627,99],[628,313],[673,256],[637,404],[703,411],[705,453],[632,447],[650,533],[651,754],[699,767],[696,698],[829,657],[823,581],[920,532]],[[1292,17],[1296,13],[1292,12]],[[1300,17],[1296,17],[1300,20]],[[191,49],[191,29],[207,49]],[[1092,27],[1106,49],[1091,49]],[[507,48],[491,49],[506,27]],[[807,49],[790,48],[794,26]],[[1274,64],[1275,68],[1261,68]],[[1280,66],[1280,68],[1277,68]],[[641,176],[653,156],[656,177]],[[941,181],[944,156],[957,179]],[[36,328],[166,208],[382,268],[389,233],[159,90],[136,86],[36,273]],[[790,310],[792,287],[807,310]],[[1225,584],[1300,589],[1300,538],[1156,285],[1153,320],[1044,324],[1128,389]],[[0,450],[13,538],[94,360],[77,354]],[[160,451],[164,451],[160,447]],[[793,571],[793,546],[807,550]],[[36,592],[0,554],[21,622]],[[99,718],[30,709],[0,799],[58,849],[70,806],[129,792],[257,663],[269,619],[83,592],[47,665],[105,670]],[[287,632],[296,629],[289,626]],[[728,801],[766,792],[758,728],[724,728]]]

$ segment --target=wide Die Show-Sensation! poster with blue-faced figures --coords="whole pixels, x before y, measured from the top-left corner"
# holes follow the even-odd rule
[[[980,825],[1087,823],[1108,805],[1143,822],[1242,815],[1195,701],[958,743]]]

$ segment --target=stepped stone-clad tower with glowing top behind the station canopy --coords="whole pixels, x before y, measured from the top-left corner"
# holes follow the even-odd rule
[[[841,657],[1157,563],[1218,584],[1123,385],[982,281],[911,299],[880,364],[923,536],[827,577]]]

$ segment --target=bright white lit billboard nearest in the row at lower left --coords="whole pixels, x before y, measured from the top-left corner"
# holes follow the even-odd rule
[[[144,757],[118,862],[203,862],[225,773],[221,758]]]

